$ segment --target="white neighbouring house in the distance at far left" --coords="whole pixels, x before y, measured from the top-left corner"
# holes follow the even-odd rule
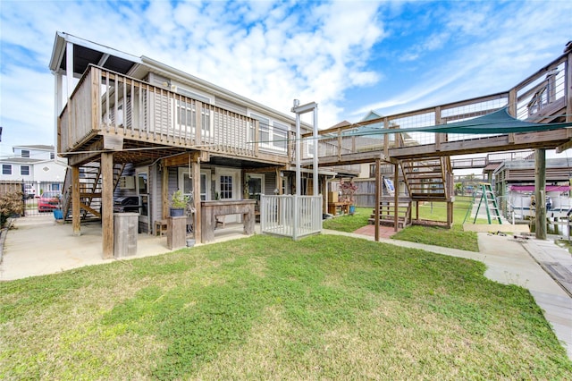
[[[65,160],[55,160],[54,146],[14,146],[13,157],[0,159],[3,182],[23,182],[28,195],[44,190],[61,190],[65,178]]]

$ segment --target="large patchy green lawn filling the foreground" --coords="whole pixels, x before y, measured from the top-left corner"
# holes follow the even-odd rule
[[[257,235],[0,283],[2,379],[572,379],[482,263]]]

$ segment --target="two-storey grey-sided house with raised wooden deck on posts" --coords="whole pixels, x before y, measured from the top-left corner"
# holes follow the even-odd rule
[[[139,197],[139,231],[156,233],[169,216],[170,196],[182,190],[192,197],[200,237],[206,224],[201,213],[212,201],[238,205],[262,194],[295,193],[293,115],[149,57],[61,32],[49,67],[55,76],[57,152],[70,165],[63,214],[71,214],[78,235],[82,218],[102,219],[104,257],[113,252],[114,198]],[[310,126],[302,124],[301,131]],[[313,149],[304,144],[303,159]],[[344,168],[320,171],[315,190],[306,164],[301,194],[324,193],[324,176]],[[247,216],[225,215],[226,222]]]

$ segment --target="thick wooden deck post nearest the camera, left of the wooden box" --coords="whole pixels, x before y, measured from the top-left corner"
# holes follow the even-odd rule
[[[114,154],[101,154],[101,232],[103,256],[114,258]]]

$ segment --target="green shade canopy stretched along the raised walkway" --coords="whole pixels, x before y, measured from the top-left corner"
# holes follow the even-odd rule
[[[521,121],[511,115],[507,111],[507,107],[503,107],[491,114],[486,114],[463,122],[455,122],[449,124],[438,124],[434,126],[424,127],[408,127],[400,130],[393,129],[373,129],[357,128],[357,130],[349,131],[345,136],[365,136],[387,134],[395,132],[443,132],[443,133],[462,133],[462,134],[499,134],[512,132],[534,132],[558,130],[560,128],[572,127],[571,122],[565,123],[530,123]]]

